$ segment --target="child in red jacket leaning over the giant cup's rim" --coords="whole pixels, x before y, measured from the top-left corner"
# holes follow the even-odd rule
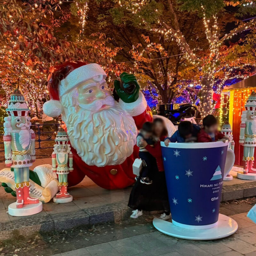
[[[229,140],[223,133],[218,132],[218,121],[215,116],[208,115],[203,119],[204,128],[197,134],[197,142],[213,142]]]

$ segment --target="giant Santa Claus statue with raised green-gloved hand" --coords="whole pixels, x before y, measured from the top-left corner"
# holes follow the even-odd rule
[[[43,109],[48,116],[62,114],[67,126],[74,159],[69,186],[85,175],[107,189],[133,184],[137,129],[153,120],[136,77],[122,73],[114,82],[114,98],[105,71],[96,63],[66,62],[50,72],[51,100]]]

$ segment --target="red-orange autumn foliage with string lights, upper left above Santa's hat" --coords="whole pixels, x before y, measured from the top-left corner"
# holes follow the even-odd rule
[[[96,59],[104,64],[118,49],[105,45],[104,36],[90,41],[81,40],[74,29],[68,37],[63,24],[74,18],[68,1],[57,0],[0,0],[0,82],[6,101],[19,85],[30,108],[38,114],[41,99],[46,97],[45,79],[52,65],[67,60]],[[80,15],[80,14],[79,14]],[[79,25],[77,25],[79,26]],[[108,65],[107,71],[115,67]]]

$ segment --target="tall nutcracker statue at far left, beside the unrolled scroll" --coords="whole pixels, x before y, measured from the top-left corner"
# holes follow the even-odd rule
[[[10,204],[8,212],[13,216],[27,216],[41,212],[42,203],[29,196],[29,166],[36,160],[35,133],[30,129],[29,108],[19,89],[15,89],[9,100],[4,117],[5,164],[14,171],[16,204]]]

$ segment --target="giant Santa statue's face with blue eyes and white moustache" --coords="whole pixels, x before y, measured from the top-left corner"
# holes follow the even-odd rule
[[[100,80],[100,81],[98,81]],[[80,84],[77,88],[79,106],[86,110],[98,111],[114,106],[114,98],[102,76]]]

